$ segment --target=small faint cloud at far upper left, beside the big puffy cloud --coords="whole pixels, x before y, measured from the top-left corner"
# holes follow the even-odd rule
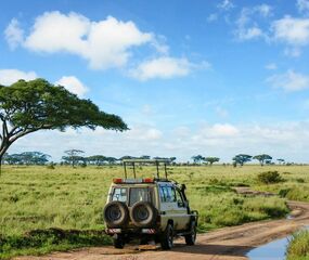
[[[24,30],[21,29],[17,20],[13,18],[4,30],[5,39],[11,50],[14,50],[24,40]]]

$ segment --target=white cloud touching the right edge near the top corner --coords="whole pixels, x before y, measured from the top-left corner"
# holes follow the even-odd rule
[[[295,47],[309,43],[309,18],[294,18],[286,15],[274,21],[271,28],[274,40]]]

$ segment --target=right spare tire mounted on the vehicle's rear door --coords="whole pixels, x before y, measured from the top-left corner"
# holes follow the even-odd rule
[[[136,203],[130,210],[130,218],[136,226],[153,226],[157,219],[157,209],[146,202]]]

